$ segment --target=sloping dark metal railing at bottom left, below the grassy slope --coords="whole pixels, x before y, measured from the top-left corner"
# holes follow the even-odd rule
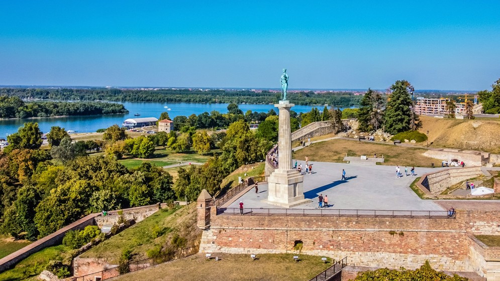
[[[165,254],[153,256],[150,258],[145,258],[137,261],[128,262],[123,265],[117,265],[112,268],[108,268],[102,271],[97,271],[94,273],[86,274],[78,277],[70,277],[69,280],[72,281],[94,281],[95,277],[101,278],[101,280],[113,278],[119,275],[123,275],[129,272],[137,271],[140,269],[148,268],[150,266],[160,264],[163,262],[170,261],[172,259],[186,257],[193,255],[198,252],[198,246],[192,246],[188,248],[183,248],[177,251],[168,252]]]

